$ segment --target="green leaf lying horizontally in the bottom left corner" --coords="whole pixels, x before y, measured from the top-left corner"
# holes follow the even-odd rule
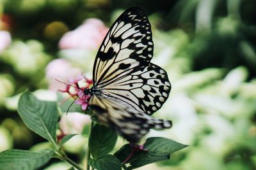
[[[54,150],[42,150],[40,152],[32,152],[28,150],[6,150],[0,153],[0,169],[1,170],[29,170],[37,169],[46,164],[50,159]]]

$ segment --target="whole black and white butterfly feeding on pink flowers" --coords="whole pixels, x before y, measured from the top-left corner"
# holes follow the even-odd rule
[[[131,143],[149,129],[172,126],[168,120],[150,117],[169,96],[166,71],[152,64],[153,41],[150,23],[141,8],[124,11],[100,45],[93,66],[90,108],[105,124]]]

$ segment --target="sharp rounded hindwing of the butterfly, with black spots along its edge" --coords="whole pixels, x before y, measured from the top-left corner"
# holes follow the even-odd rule
[[[171,84],[164,69],[155,64],[137,67],[118,80],[109,81],[102,92],[148,115],[161,108],[169,96]]]

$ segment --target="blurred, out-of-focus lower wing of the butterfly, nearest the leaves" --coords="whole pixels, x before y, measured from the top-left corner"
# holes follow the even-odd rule
[[[89,103],[102,122],[116,129],[118,134],[131,143],[137,143],[151,128],[172,126],[171,121],[150,117],[116,98],[92,96]]]

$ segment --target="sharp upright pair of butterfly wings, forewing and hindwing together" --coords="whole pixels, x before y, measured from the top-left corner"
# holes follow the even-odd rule
[[[150,23],[140,8],[130,8],[109,29],[93,66],[94,86],[151,115],[168,98],[171,84],[164,69],[150,63]]]

